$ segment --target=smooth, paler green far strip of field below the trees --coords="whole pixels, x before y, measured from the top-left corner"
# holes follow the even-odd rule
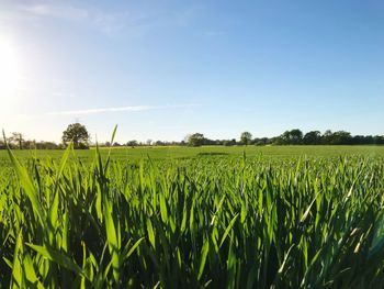
[[[80,159],[92,160],[94,148],[76,151]],[[108,148],[100,148],[102,155],[108,154]],[[14,155],[21,159],[37,157],[39,159],[58,159],[63,156],[64,151],[37,149],[37,151],[14,151]],[[384,156],[384,146],[145,146],[145,147],[113,147],[112,158],[115,160],[138,160],[142,158],[151,159],[183,159],[196,157],[278,157],[290,158],[297,156],[308,157],[336,157],[336,156]],[[7,151],[0,151],[0,164],[9,163]]]

